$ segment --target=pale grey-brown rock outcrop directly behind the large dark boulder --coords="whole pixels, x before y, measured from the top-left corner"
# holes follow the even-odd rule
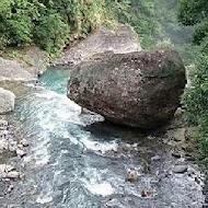
[[[118,24],[115,30],[102,26],[77,46],[66,49],[63,57],[54,65],[68,69],[68,66],[78,65],[95,54],[109,50],[114,54],[141,50],[137,33],[130,25]]]

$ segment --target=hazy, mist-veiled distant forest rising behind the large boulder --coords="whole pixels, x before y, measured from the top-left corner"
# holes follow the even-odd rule
[[[193,28],[178,24],[178,5],[177,0],[131,0],[129,15],[120,20],[135,27],[142,48],[175,49],[187,63],[193,60],[188,46]]]

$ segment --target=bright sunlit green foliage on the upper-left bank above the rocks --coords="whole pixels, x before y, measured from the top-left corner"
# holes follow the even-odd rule
[[[57,53],[101,24],[113,25],[128,0],[1,0],[0,48],[37,44]]]

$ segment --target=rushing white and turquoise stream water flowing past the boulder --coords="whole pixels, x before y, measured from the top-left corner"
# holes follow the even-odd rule
[[[23,176],[0,199],[1,207],[200,208],[204,196],[196,177],[172,173],[175,159],[162,142],[165,134],[116,127],[99,115],[81,114],[66,96],[68,74],[48,70],[41,85],[21,92],[15,134],[27,138],[30,147],[22,159]],[[139,173],[138,182],[126,182],[129,170]],[[141,196],[145,189],[148,197]]]

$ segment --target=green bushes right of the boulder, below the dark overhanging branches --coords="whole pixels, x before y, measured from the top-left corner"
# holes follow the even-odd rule
[[[208,165],[208,55],[199,56],[190,81],[192,86],[184,95],[186,116],[190,124],[199,127],[199,151],[204,164]]]

